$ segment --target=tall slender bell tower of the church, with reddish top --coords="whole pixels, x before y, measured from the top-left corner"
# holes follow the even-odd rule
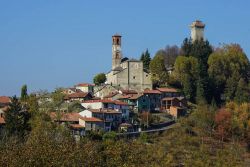
[[[118,34],[112,36],[112,69],[119,67],[121,64],[121,38],[122,36]]]

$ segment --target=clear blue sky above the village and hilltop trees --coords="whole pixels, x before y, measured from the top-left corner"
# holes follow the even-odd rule
[[[213,46],[238,43],[250,57],[247,0],[1,0],[0,96],[92,82],[111,69],[111,37],[125,57],[181,46],[194,20]]]

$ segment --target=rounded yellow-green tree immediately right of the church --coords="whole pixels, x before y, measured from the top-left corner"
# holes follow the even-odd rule
[[[164,64],[164,55],[157,52],[155,57],[151,60],[149,65],[152,74],[151,79],[156,86],[163,86],[168,80],[168,72]]]

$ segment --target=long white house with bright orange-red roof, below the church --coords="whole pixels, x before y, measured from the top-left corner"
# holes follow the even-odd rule
[[[115,110],[122,113],[124,120],[129,119],[129,105],[119,100],[88,100],[81,103],[83,107],[87,109],[104,109],[104,110]]]

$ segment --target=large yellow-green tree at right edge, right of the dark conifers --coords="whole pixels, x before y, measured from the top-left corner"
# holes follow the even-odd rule
[[[224,45],[208,59],[208,74],[214,87],[217,102],[232,100],[240,78],[249,82],[250,63],[240,45]]]

